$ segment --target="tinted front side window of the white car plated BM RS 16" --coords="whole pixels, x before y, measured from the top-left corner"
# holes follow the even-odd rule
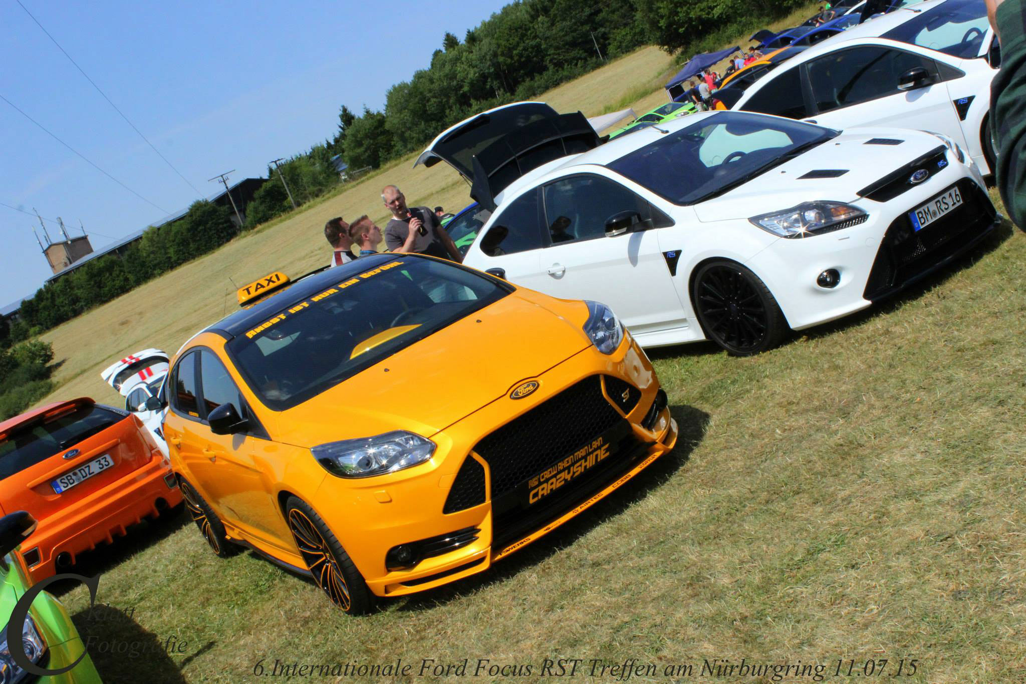
[[[575,175],[545,187],[545,216],[553,245],[605,237],[605,222],[622,211],[648,218],[648,203],[600,175]]]

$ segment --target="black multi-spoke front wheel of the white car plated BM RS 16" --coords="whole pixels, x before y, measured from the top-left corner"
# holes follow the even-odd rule
[[[784,338],[787,321],[777,300],[754,273],[719,259],[695,274],[695,311],[706,336],[732,356],[751,356]]]

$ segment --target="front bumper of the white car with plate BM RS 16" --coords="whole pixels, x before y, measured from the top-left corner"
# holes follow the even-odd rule
[[[893,199],[853,201],[868,212],[864,224],[804,239],[780,239],[746,266],[770,287],[792,329],[841,318],[938,271],[996,228],[996,212],[980,184],[974,169],[951,163]],[[909,212],[955,185],[963,205],[918,233],[912,231]],[[840,274],[836,287],[816,282],[828,269]]]

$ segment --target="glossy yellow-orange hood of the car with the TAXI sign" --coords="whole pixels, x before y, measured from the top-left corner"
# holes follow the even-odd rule
[[[517,290],[283,411],[276,439],[311,447],[390,430],[430,437],[589,348],[587,317],[581,301]]]

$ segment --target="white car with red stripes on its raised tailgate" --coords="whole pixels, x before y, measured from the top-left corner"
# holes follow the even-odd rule
[[[147,349],[129,354],[100,373],[105,383],[125,398],[125,410],[139,415],[165,457],[167,443],[160,427],[164,420],[165,408],[149,400],[160,395],[164,378],[167,377],[167,354],[162,350]],[[164,404],[163,401],[160,403]]]

